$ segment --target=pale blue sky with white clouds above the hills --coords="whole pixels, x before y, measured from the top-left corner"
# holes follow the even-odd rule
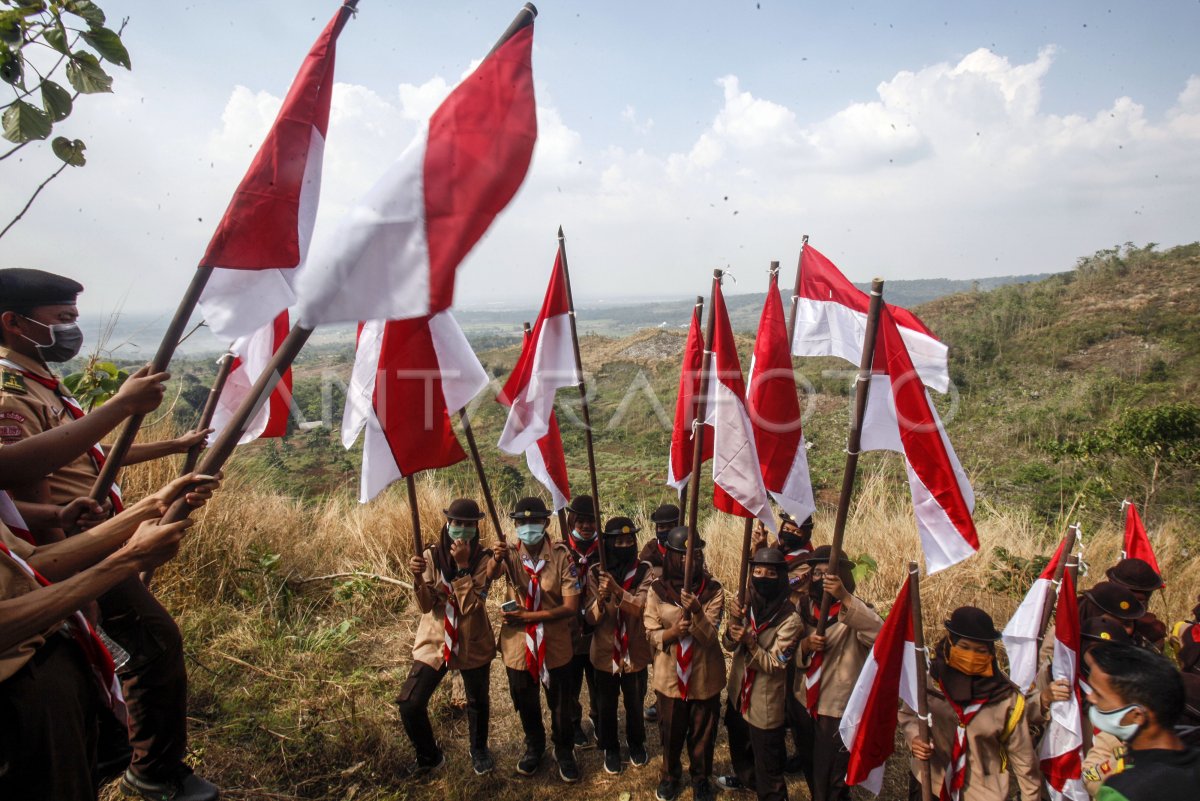
[[[94,309],[172,307],[337,4],[102,6],[130,17],[133,71],[77,104],[62,133],[88,140],[88,167],[0,247],[79,277]],[[338,44],[318,237],[518,6],[361,0]],[[1127,240],[1200,237],[1194,0],[539,11],[539,147],[463,265],[462,306],[535,307],[559,223],[583,301],[692,295],[714,266],[739,276],[731,291],[760,290],[804,233],[854,279],[1063,270]],[[5,219],[53,169],[44,152],[10,162]]]

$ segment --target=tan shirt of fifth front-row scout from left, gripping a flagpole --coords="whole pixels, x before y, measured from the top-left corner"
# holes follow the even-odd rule
[[[725,687],[725,655],[718,632],[725,616],[725,590],[720,582],[709,579],[707,592],[712,592],[702,604],[703,614],[691,619],[692,657],[688,698],[706,700],[721,694]],[[676,675],[676,649],[679,643],[662,645],[662,632],[674,626],[683,616],[683,609],[664,601],[653,586],[646,596],[646,636],[654,649],[654,691],[667,698],[680,698],[679,679]]]

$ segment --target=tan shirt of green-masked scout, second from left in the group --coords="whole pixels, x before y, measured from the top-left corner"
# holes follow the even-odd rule
[[[520,550],[518,550],[520,549]],[[504,549],[504,574],[508,577],[506,601],[516,601],[524,609],[526,588],[529,586],[529,576],[521,564],[521,552],[524,546],[518,541],[509,543]],[[541,608],[542,610],[557,609],[563,606],[563,598],[580,595],[578,576],[575,562],[566,546],[562,542],[551,542],[550,534],[541,541],[538,554],[530,554],[530,559],[546,559],[546,566],[541,571]],[[546,669],[560,668],[571,661],[571,619],[563,618],[544,624],[542,642],[546,644]],[[524,626],[500,626],[500,657],[504,667],[514,670],[524,670]]]

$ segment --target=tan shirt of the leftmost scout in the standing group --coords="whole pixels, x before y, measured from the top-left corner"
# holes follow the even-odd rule
[[[487,566],[491,558],[479,560],[474,576],[463,576],[450,583],[458,600],[458,652],[450,655],[451,670],[479,668],[496,657],[496,634],[487,619]],[[442,668],[442,648],[445,644],[446,588],[433,559],[433,548],[425,549],[425,579],[416,588],[420,622],[413,640],[413,661],[434,670]]]

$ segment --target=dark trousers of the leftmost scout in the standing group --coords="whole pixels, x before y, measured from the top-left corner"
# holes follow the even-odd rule
[[[470,733],[472,752],[487,748],[487,725],[491,718],[492,663],[482,664],[470,670],[460,670],[462,686],[467,691],[467,730]],[[418,765],[436,765],[440,758],[440,748],[433,736],[433,724],[430,723],[430,699],[433,691],[442,683],[449,669],[443,664],[433,668],[424,662],[413,662],[396,699],[400,706],[400,719],[404,724],[408,739],[416,751]]]

